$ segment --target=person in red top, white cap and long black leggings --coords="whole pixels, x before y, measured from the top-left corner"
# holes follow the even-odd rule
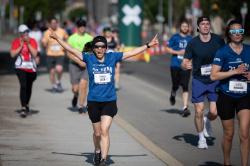
[[[29,37],[29,28],[22,24],[18,27],[19,38],[12,43],[10,56],[16,58],[15,70],[20,83],[20,100],[22,110],[20,116],[25,118],[29,113],[29,101],[32,85],[36,80],[37,43]]]

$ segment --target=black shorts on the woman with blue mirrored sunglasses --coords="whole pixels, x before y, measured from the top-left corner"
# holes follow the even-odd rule
[[[243,109],[250,111],[250,93],[244,97],[234,98],[220,92],[216,102],[217,112],[221,120],[229,120],[235,117]]]

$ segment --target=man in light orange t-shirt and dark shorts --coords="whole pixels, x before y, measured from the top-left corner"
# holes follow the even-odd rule
[[[60,38],[64,40],[68,40],[69,35],[67,32],[58,27],[57,25],[57,19],[55,17],[52,17],[49,20],[50,28],[55,31]],[[52,84],[51,92],[63,92],[62,84],[61,84],[61,78],[63,74],[63,64],[64,64],[64,58],[65,58],[65,51],[60,44],[58,44],[55,40],[50,39],[49,37],[50,31],[47,29],[44,32],[44,36],[42,39],[43,46],[47,48],[47,67],[50,73],[50,81]],[[57,80],[56,77],[57,76]]]

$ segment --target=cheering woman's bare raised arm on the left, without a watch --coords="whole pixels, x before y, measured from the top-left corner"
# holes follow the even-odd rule
[[[82,58],[82,52],[81,51],[75,49],[74,47],[72,47],[71,45],[69,45],[67,42],[65,42],[61,38],[59,38],[52,29],[49,28],[49,30],[51,32],[49,34],[49,36],[52,39],[56,40],[64,49],[66,49],[67,51],[69,51],[71,54],[75,55],[80,60],[83,60],[83,58]]]

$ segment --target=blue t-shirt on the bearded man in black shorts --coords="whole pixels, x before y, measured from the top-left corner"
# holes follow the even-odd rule
[[[167,43],[167,47],[172,48],[175,51],[179,51],[185,49],[189,40],[191,40],[191,36],[182,37],[179,33],[173,35]],[[170,67],[178,67],[181,68],[181,62],[183,60],[183,55],[173,54],[171,59]]]

